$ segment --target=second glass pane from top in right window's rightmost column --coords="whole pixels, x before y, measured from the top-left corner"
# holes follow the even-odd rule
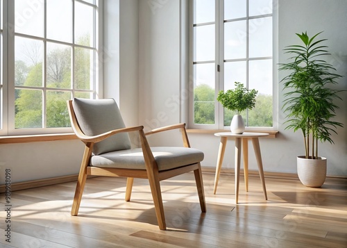
[[[249,20],[249,57],[272,56],[272,17]]]

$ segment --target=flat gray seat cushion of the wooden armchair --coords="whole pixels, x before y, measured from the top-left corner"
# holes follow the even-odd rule
[[[151,147],[159,171],[170,170],[183,165],[191,165],[203,160],[203,152],[187,147]],[[92,156],[90,165],[96,167],[114,167],[146,170],[141,148],[124,151],[112,151]]]

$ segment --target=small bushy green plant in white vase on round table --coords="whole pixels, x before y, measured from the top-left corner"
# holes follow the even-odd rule
[[[257,90],[248,90],[240,82],[235,82],[235,89],[227,90],[226,92],[221,90],[218,92],[217,101],[224,108],[235,112],[230,124],[230,131],[232,133],[244,133],[244,119],[242,118],[241,112],[254,108],[256,96]]]

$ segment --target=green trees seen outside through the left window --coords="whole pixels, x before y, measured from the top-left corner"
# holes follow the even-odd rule
[[[79,44],[89,45],[86,35]],[[90,49],[80,47],[74,52],[74,88],[90,90]],[[71,49],[53,49],[47,54],[46,65],[46,124],[48,128],[70,126],[66,101],[71,99]],[[42,128],[43,92],[30,87],[42,87],[42,63],[27,66],[21,60],[15,61],[16,86],[26,89],[15,90],[15,128]],[[55,90],[56,89],[56,90]],[[76,92],[76,97],[90,97],[88,92]]]

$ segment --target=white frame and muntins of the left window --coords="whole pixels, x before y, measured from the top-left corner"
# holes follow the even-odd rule
[[[1,109],[0,114],[2,118],[2,126],[0,123],[0,135],[37,135],[37,134],[47,134],[47,133],[71,133],[71,127],[54,127],[54,128],[31,128],[31,129],[15,129],[15,88],[20,88],[15,85],[15,37],[21,38],[31,38],[34,40],[40,40],[44,42],[44,53],[42,54],[42,61],[44,64],[43,72],[46,72],[46,44],[47,42],[54,42],[55,44],[65,44],[71,47],[71,72],[74,72],[74,67],[76,66],[74,61],[74,53],[76,47],[90,49],[94,52],[95,58],[91,61],[91,66],[94,71],[93,76],[93,88],[91,90],[85,90],[86,92],[91,92],[93,98],[99,98],[102,96],[102,72],[103,72],[103,63],[101,61],[102,55],[102,44],[103,44],[103,1],[102,0],[94,0],[94,3],[89,3],[88,1],[82,0],[74,0],[71,1],[72,17],[74,20],[74,5],[76,2],[83,3],[87,6],[92,6],[96,8],[96,12],[93,15],[93,37],[94,40],[91,41],[90,47],[83,46],[81,44],[76,44],[76,40],[74,41],[74,21],[71,23],[72,25],[72,33],[71,33],[71,42],[63,42],[59,40],[53,40],[46,37],[46,12],[44,12],[44,37],[37,38],[33,35],[26,35],[22,33],[15,33],[15,1],[12,0],[1,0],[3,1],[3,10],[1,10],[1,18],[3,18],[3,50],[7,50],[7,52],[3,52],[1,54],[3,61],[7,63],[3,63],[1,67],[3,67],[3,87],[2,89],[2,97],[0,97]],[[44,8],[46,10],[46,0],[40,0],[44,3]],[[8,24],[8,25],[5,25]],[[11,29],[12,27],[12,29]],[[13,66],[11,66],[13,65]],[[44,97],[46,98],[46,92],[48,90],[58,90],[61,88],[48,88],[46,85],[46,75],[43,75],[44,84],[38,88],[42,90],[44,93]],[[91,77],[92,78],[92,77]],[[8,83],[5,83],[8,82]],[[74,87],[74,73],[71,73],[71,83],[72,87],[69,89],[64,89],[64,92],[70,92],[72,96],[74,96],[75,87]],[[25,87],[24,87],[25,88]],[[34,88],[35,89],[35,88]],[[83,90],[82,90],[83,91]],[[81,92],[81,90],[78,90]],[[46,101],[42,99],[42,118],[46,118],[46,112],[44,111],[46,108]],[[0,118],[0,119],[1,119]]]

